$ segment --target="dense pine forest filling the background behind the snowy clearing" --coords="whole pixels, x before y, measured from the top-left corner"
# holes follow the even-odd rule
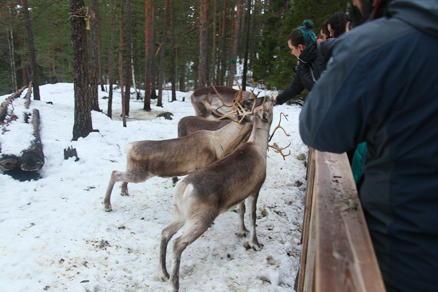
[[[84,10],[72,12],[69,2]],[[166,86],[236,85],[238,66],[239,80],[264,80],[257,86],[281,91],[296,65],[289,32],[311,19],[318,35],[324,20],[349,6],[347,0],[0,0],[0,95],[35,78],[34,95],[35,83],[73,82],[74,15],[86,22],[82,61],[89,84],[100,90],[125,82],[150,91],[159,105]]]

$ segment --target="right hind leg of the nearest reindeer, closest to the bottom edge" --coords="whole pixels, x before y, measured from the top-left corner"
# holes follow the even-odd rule
[[[178,292],[180,288],[181,254],[189,244],[200,237],[208,227],[210,227],[216,218],[216,216],[207,212],[205,212],[205,214],[196,214],[196,218],[188,219],[186,223],[187,227],[183,235],[174,240],[170,280],[165,292]]]

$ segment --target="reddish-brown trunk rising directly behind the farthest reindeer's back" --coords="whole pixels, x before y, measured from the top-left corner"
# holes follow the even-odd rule
[[[201,0],[200,14],[200,34],[199,34],[199,70],[198,70],[198,88],[207,85],[207,50],[208,50],[208,32],[207,32],[207,0]]]

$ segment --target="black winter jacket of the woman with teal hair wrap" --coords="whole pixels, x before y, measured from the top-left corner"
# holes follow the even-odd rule
[[[293,78],[292,83],[288,88],[278,94],[276,98],[278,104],[281,105],[286,101],[291,100],[305,89],[307,91],[312,89],[315,81],[318,80],[321,73],[326,70],[326,65],[329,61],[336,40],[337,38],[329,38],[320,44],[312,42],[306,47],[306,49],[304,49],[298,58],[300,63],[295,78]],[[317,46],[320,46],[319,52]]]

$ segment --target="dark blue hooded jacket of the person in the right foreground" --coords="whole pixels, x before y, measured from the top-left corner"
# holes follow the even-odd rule
[[[360,199],[383,278],[403,292],[437,292],[438,0],[387,8],[338,39],[300,134],[335,153],[366,141]]]

